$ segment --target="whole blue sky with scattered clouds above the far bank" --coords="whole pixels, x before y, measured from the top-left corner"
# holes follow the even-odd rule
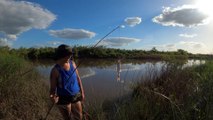
[[[0,0],[0,46],[213,54],[213,0]]]

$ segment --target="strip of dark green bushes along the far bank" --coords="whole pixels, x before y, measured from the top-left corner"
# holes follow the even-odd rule
[[[10,53],[16,53],[19,56],[36,59],[54,59],[55,48],[19,48],[10,49],[9,47],[3,47],[0,49],[8,50]],[[173,59],[211,59],[212,55],[191,54],[184,50],[177,51],[158,51],[156,48],[152,48],[150,51],[145,50],[121,50],[105,47],[83,47],[74,46],[73,56],[75,58],[127,58],[127,59],[152,59],[152,60],[173,60]]]

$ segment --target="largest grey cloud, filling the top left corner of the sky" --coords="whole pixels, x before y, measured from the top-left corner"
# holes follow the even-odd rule
[[[35,3],[26,1],[0,0],[0,33],[8,40],[32,28],[45,29],[56,16]]]

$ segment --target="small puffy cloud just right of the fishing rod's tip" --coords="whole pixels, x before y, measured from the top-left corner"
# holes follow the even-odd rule
[[[124,20],[127,25],[134,27],[141,23],[142,19],[140,17],[128,17]]]

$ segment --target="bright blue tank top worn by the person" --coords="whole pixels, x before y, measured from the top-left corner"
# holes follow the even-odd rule
[[[59,96],[72,96],[80,92],[76,71],[73,73],[75,69],[72,61],[70,61],[70,69],[68,71],[58,64],[55,67],[60,73],[57,81],[57,94]]]

